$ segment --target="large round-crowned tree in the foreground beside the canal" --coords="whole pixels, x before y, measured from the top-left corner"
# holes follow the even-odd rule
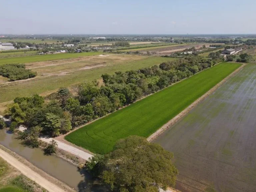
[[[96,173],[113,191],[158,192],[175,186],[173,154],[146,138],[130,136],[117,141],[107,155],[90,158],[86,169]]]

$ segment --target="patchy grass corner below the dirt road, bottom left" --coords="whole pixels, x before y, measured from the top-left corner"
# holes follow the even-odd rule
[[[23,176],[0,157],[0,192],[33,192],[34,182]],[[41,191],[44,191],[41,189]]]

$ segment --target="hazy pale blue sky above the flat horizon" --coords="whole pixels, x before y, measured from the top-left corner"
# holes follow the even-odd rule
[[[255,10],[255,0],[0,0],[0,34],[255,34]]]

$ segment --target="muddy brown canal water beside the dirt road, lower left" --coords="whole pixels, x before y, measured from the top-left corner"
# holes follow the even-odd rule
[[[43,150],[39,148],[29,148],[17,139],[17,136],[0,129],[0,144],[14,151],[27,159],[30,163],[66,183],[79,192],[103,192],[104,187],[92,180],[85,171],[78,171],[77,167],[71,163],[53,156],[44,155]]]

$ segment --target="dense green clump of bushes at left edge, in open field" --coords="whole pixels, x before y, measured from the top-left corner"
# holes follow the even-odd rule
[[[10,81],[16,81],[33,78],[37,73],[26,69],[24,64],[7,64],[0,66],[0,75],[9,78]]]

